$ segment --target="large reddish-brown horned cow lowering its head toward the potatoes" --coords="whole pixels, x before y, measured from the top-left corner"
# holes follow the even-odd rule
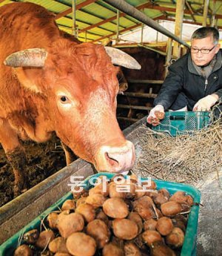
[[[73,151],[98,171],[129,170],[135,151],[115,116],[118,68],[110,50],[78,44],[58,30],[52,13],[31,3],[1,7],[0,34],[0,142],[13,166],[14,193],[26,188],[20,140],[45,142],[53,131],[67,164]]]

